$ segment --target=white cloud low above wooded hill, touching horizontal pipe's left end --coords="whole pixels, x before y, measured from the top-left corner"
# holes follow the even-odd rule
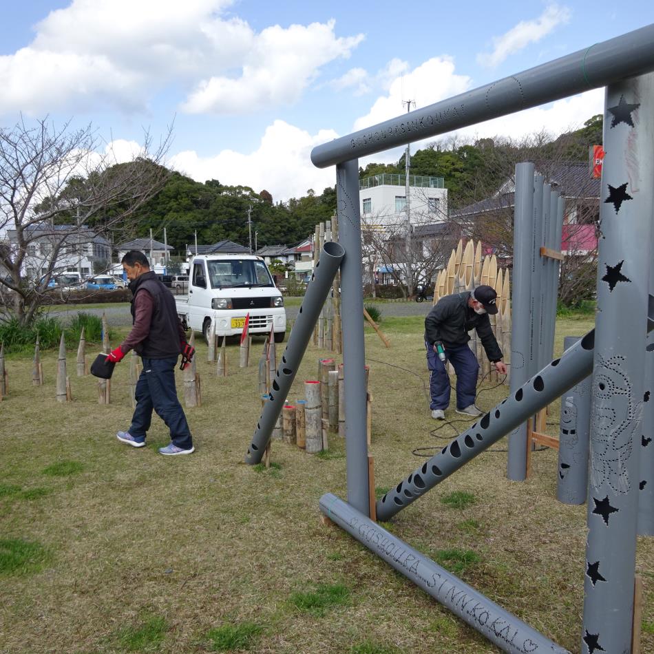
[[[330,129],[311,135],[284,120],[275,120],[250,154],[223,150],[212,157],[200,157],[196,151],[187,150],[172,156],[170,164],[198,182],[217,179],[223,184],[244,184],[257,193],[266,189],[279,202],[304,196],[308,189],[321,193],[334,186],[334,169],[316,168],[310,154],[316,145],[337,136]]]

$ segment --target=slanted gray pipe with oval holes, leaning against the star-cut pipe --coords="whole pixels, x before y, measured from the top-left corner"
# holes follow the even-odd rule
[[[593,368],[594,330],[496,405],[443,450],[377,501],[377,519],[389,520],[536,411],[587,377]]]

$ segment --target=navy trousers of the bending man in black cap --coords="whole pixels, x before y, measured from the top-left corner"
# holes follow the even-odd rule
[[[447,409],[450,406],[450,375],[447,375],[445,364],[434,352],[434,348],[425,341],[427,347],[427,367],[429,368],[429,392],[432,398],[429,408]],[[445,348],[447,361],[454,366],[456,372],[456,408],[465,409],[474,404],[479,364],[467,344],[453,348]]]

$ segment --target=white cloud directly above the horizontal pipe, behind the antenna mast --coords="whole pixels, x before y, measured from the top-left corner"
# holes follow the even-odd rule
[[[388,70],[402,72],[404,62],[393,60]],[[454,73],[454,61],[442,56],[428,59],[403,76],[396,76],[388,85],[388,94],[380,96],[366,116],[355,120],[354,129],[377,125],[402,113],[403,101],[415,101],[416,107],[426,107],[439,100],[463,93],[470,87],[470,77]]]

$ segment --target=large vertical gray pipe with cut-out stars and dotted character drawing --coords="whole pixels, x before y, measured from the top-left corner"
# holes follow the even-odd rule
[[[606,87],[584,652],[631,651],[653,143],[654,74]]]

